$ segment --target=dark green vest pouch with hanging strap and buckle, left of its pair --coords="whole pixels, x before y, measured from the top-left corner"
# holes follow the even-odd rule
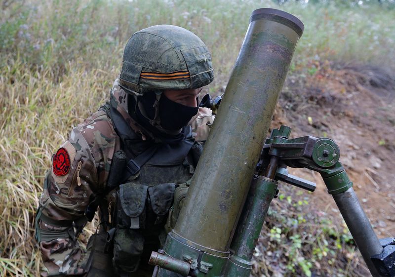
[[[148,186],[126,183],[119,186],[117,225],[121,229],[144,229]]]

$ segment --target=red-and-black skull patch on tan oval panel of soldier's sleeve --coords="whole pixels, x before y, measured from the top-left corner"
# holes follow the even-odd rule
[[[58,183],[66,181],[75,156],[76,149],[69,141],[65,142],[56,151],[52,161],[52,177],[54,177],[55,181]]]

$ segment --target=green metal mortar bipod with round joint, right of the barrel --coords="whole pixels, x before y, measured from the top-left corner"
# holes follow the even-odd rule
[[[343,165],[338,145],[328,138],[305,136],[288,139],[291,128],[274,129],[266,139],[258,175],[314,191],[315,184],[289,175],[286,167],[308,168],[321,174],[373,277],[395,276],[395,240],[379,240],[370,225]]]

